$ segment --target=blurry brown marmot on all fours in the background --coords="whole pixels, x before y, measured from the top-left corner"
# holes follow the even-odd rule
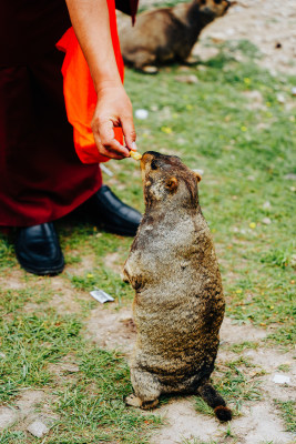
[[[228,0],[194,0],[143,12],[133,28],[119,22],[124,62],[154,73],[160,64],[186,61],[204,27],[224,16],[229,6]]]

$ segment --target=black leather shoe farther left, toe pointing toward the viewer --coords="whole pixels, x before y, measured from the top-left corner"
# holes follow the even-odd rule
[[[52,223],[20,229],[16,253],[21,266],[30,273],[47,275],[63,271],[63,253]]]

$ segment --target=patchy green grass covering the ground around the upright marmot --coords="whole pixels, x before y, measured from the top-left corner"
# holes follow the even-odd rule
[[[295,341],[296,189],[288,174],[295,174],[296,108],[290,89],[296,79],[275,78],[259,69],[259,54],[246,41],[220,50],[203,65],[187,69],[197,75],[196,84],[175,81],[176,65],[155,77],[126,71],[134,110],[149,111],[146,120],[135,121],[137,144],[141,152],[178,154],[188,167],[204,170],[200,199],[221,263],[226,314],[237,323],[272,325],[264,346],[288,350]],[[244,56],[243,62],[235,60],[235,52]],[[259,94],[257,107],[252,91]],[[277,101],[278,93],[289,107]],[[143,211],[135,162],[110,162],[109,168],[114,175],[106,182]],[[55,279],[22,272],[11,240],[0,239],[1,403],[13,406],[27,389],[44,391],[59,417],[44,444],[146,443],[160,418],[124,406],[123,397],[131,392],[125,359],[84,339],[88,316],[98,307],[89,297],[94,286],[115,296],[115,309],[131,304],[133,292],[105,265],[110,254],[123,264],[131,239],[73,218],[57,226],[68,269]],[[79,303],[74,314],[63,312],[65,291]],[[51,303],[53,296],[60,297],[61,306]],[[251,363],[241,359],[244,350],[262,345],[251,341],[232,345],[238,360],[218,364],[213,375],[214,385],[237,414],[242,403],[262,396],[259,374],[249,376]],[[51,365],[61,365],[67,356],[72,356],[79,372],[57,377]],[[277,406],[292,430],[292,405]],[[200,398],[196,408],[208,413]],[[1,444],[35,442],[18,425],[1,433]]]

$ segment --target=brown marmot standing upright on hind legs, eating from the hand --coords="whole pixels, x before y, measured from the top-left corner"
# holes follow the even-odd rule
[[[224,296],[210,229],[198,203],[200,176],[177,157],[141,160],[145,214],[124,264],[135,290],[137,330],[131,361],[134,395],[154,407],[161,394],[197,394],[221,421],[232,412],[210,384],[224,316]]]

